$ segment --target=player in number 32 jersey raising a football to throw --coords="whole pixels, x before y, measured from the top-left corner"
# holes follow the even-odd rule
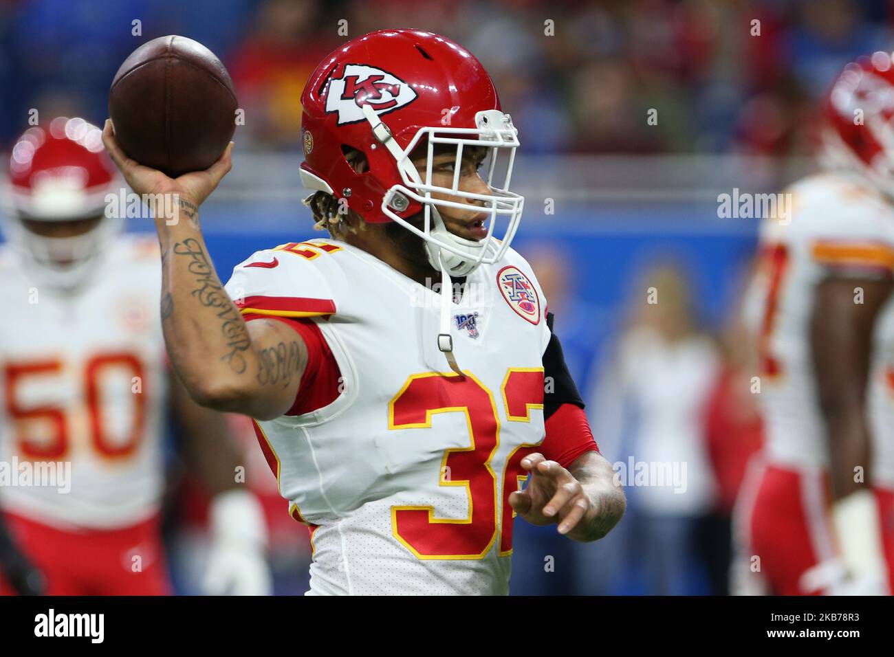
[[[330,239],[258,251],[225,291],[198,208],[232,144],[171,180],[106,124],[134,190],[179,195],[180,220],[156,219],[170,357],[195,400],[256,418],[311,527],[308,593],[505,594],[516,514],[593,541],[625,504],[510,248],[517,131],[473,55],[411,29],[339,47],[302,103],[301,180]]]

